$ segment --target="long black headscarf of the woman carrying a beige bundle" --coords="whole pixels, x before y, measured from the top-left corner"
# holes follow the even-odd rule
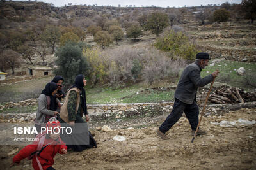
[[[74,85],[72,85],[71,88],[76,87],[77,89],[81,90],[81,94],[82,94],[82,108],[84,111],[84,114],[88,114],[87,113],[87,105],[86,105],[86,95],[85,95],[85,90],[84,90],[84,75],[83,74],[79,74],[78,76],[76,76],[75,79],[75,83]]]

